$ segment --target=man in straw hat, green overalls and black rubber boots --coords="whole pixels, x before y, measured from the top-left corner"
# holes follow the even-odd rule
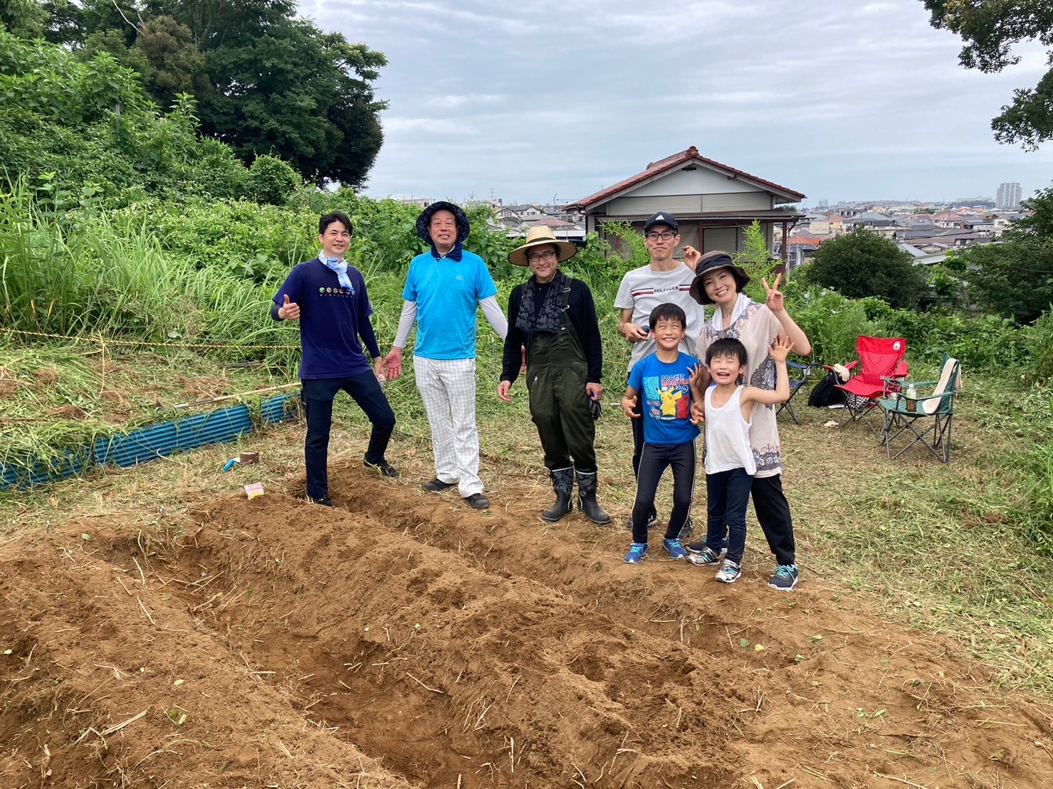
[[[574,244],[557,241],[551,227],[534,227],[526,243],[509,252],[510,263],[530,266],[534,276],[509,296],[509,333],[497,396],[512,402],[509,391],[519,373],[520,348],[525,346],[530,412],[556,493],[556,503],[541,519],[555,523],[574,509],[577,476],[578,508],[603,526],[611,523],[611,515],[596,501],[593,421],[603,398],[603,346],[592,291],[559,270],[559,264],[577,251]]]

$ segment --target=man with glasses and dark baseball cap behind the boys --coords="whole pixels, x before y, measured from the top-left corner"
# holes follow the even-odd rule
[[[621,278],[618,295],[614,299],[615,308],[621,310],[618,332],[633,343],[629,359],[629,369],[655,349],[655,341],[648,326],[648,316],[659,304],[672,303],[683,309],[688,317],[687,336],[680,350],[693,355],[698,342],[698,332],[704,322],[704,309],[691,298],[691,283],[695,278],[694,265],[699,254],[692,247],[684,247],[686,260],[681,263],[673,258],[680,243],[680,224],[669,211],[658,211],[643,223],[643,242],[651,255],[651,263],[628,271]],[[637,409],[639,405],[637,405]],[[633,420],[633,473],[640,467],[643,451],[643,420]],[[658,523],[658,513],[652,510],[648,526]],[[630,524],[632,528],[632,524]],[[687,537],[687,535],[684,535]]]

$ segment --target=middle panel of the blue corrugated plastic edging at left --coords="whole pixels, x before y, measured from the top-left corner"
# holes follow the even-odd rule
[[[100,464],[134,466],[180,449],[233,441],[252,429],[249,406],[237,405],[102,439],[95,444],[95,457]]]

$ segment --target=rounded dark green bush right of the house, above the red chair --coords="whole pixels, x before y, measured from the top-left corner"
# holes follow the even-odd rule
[[[891,239],[856,227],[827,241],[800,269],[809,284],[833,288],[849,299],[875,296],[893,307],[917,306],[925,276]]]

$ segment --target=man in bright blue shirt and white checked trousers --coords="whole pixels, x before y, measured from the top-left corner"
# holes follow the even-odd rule
[[[391,352],[388,378],[402,375],[402,348],[417,323],[413,370],[428,411],[435,452],[435,479],[423,487],[438,493],[457,486],[475,509],[485,509],[479,479],[479,429],[475,424],[476,310],[502,340],[508,331],[497,287],[485,262],[461,246],[471,226],[460,206],[439,201],[417,218],[417,235],[432,248],[410,263],[402,317]]]

